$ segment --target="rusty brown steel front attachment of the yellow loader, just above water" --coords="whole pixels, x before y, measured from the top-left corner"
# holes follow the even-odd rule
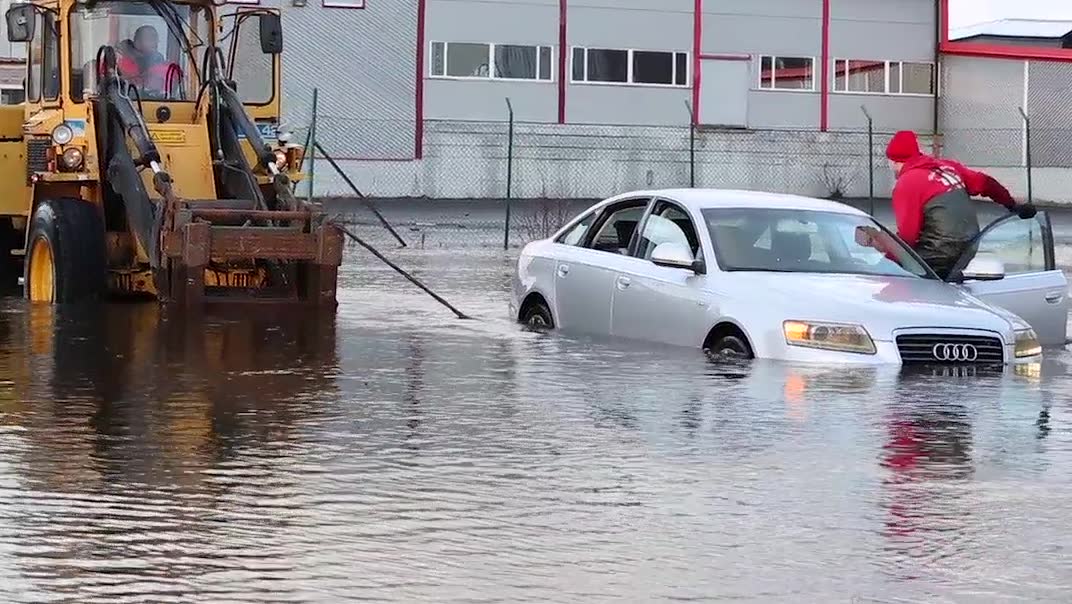
[[[310,210],[220,205],[190,204],[165,232],[165,262],[158,278],[162,300],[179,306],[338,304],[341,229]]]

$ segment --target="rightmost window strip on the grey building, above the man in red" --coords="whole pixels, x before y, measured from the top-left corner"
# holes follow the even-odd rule
[[[836,59],[834,91],[932,97],[934,69],[932,63]]]

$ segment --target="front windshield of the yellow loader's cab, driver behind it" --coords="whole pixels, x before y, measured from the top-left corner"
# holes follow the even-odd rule
[[[119,75],[135,86],[142,99],[195,97],[194,74],[200,65],[191,58],[200,60],[211,35],[211,15],[204,6],[163,6],[167,19],[148,2],[78,3],[71,12],[71,93],[75,99],[96,92],[100,73],[93,63],[102,46],[115,48]]]

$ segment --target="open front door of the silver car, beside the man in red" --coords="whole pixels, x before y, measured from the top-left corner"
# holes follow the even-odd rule
[[[969,261],[987,255],[1004,264],[1004,277],[971,279]],[[1033,219],[1009,216],[980,233],[978,246],[957,263],[965,270],[962,286],[994,306],[1027,321],[1042,345],[1063,345],[1069,312],[1069,284],[1054,257],[1049,215]]]

